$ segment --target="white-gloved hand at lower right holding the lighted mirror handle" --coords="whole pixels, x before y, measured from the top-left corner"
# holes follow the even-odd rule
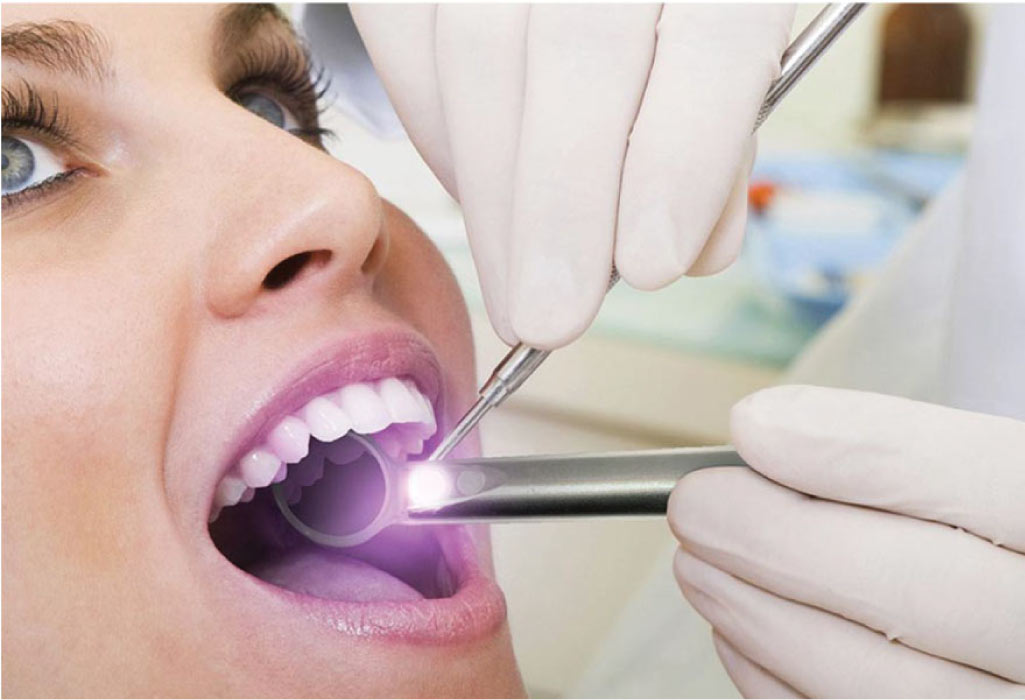
[[[745,695],[1025,695],[1025,423],[782,386],[733,409],[754,470],[678,485],[684,594]]]

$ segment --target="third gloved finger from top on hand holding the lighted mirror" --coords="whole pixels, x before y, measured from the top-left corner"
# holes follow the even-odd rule
[[[676,581],[741,654],[809,697],[1008,697],[1017,684],[773,595],[683,550]]]

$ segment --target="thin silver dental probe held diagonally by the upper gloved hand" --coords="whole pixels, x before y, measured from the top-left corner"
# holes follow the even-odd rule
[[[757,131],[808,69],[818,60],[864,7],[865,4],[860,2],[830,3],[790,43],[783,52],[779,78],[770,85],[752,131]],[[609,276],[608,289],[612,289],[618,281],[619,274],[613,267]],[[550,352],[530,347],[522,342],[509,351],[495,367],[491,377],[481,386],[477,402],[439,443],[428,459],[445,458],[481,422],[488,411],[499,406],[520,388],[547,359]]]

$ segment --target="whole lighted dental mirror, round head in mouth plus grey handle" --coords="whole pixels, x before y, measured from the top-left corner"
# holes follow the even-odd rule
[[[691,471],[746,466],[729,446],[404,464],[370,438],[350,439],[324,448],[336,452],[325,455],[320,476],[297,478],[317,485],[300,498],[296,489],[289,496],[288,481],[274,485],[285,520],[318,544],[352,547],[400,524],[664,516],[673,486]]]

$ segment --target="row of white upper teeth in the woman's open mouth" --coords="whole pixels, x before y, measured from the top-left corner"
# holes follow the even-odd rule
[[[311,436],[330,443],[350,430],[374,435],[381,449],[398,458],[420,452],[437,428],[430,402],[409,379],[358,382],[316,397],[281,419],[262,445],[229,469],[214,492],[210,521],[221,508],[251,499],[254,489],[284,480],[287,464],[309,454]]]

